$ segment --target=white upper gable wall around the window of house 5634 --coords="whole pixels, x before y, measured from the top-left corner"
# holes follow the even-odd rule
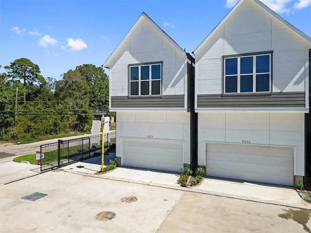
[[[203,104],[202,95],[223,94],[223,56],[264,51],[273,51],[272,93],[276,93],[264,101],[275,101],[277,93],[301,96],[309,86],[309,49],[306,41],[255,2],[244,1],[195,52],[197,104]],[[217,101],[222,104],[220,98]],[[308,100],[305,104],[309,106]]]

